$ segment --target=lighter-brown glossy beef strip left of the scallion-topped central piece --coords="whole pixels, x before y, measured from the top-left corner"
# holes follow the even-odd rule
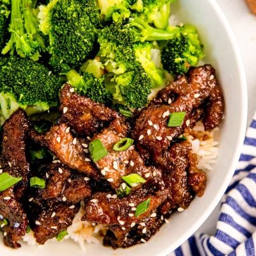
[[[96,180],[101,179],[88,154],[88,140],[76,138],[67,124],[54,125],[45,135],[31,131],[29,136],[42,147],[47,147],[69,168],[84,173]]]

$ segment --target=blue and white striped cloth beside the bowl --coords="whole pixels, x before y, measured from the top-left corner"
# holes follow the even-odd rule
[[[195,234],[169,256],[256,255],[256,113],[222,198],[214,236]]]

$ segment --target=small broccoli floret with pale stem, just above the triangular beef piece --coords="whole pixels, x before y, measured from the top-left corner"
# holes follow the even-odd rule
[[[104,84],[104,77],[96,78],[89,72],[84,72],[81,76],[76,70],[70,70],[67,73],[67,80],[81,95],[86,95],[86,97],[104,104],[109,104],[112,101],[112,95]]]

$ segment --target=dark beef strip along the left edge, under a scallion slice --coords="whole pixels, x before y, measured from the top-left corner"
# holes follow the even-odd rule
[[[13,177],[22,177],[14,186],[0,192],[0,220],[8,220],[8,225],[1,227],[4,244],[13,248],[20,247],[18,241],[26,233],[28,220],[20,204],[28,182],[29,164],[26,160],[26,138],[30,123],[26,113],[17,110],[3,125],[3,143],[1,168]]]

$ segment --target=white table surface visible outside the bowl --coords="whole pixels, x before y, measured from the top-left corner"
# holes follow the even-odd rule
[[[248,88],[248,126],[256,111],[256,15],[249,12],[244,0],[216,0],[216,2],[220,4],[234,31],[243,58]],[[214,234],[219,213],[220,204],[198,232]]]

